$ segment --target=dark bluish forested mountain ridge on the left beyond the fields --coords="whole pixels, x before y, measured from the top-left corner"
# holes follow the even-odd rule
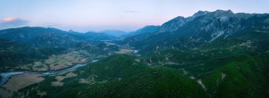
[[[0,30],[1,39],[28,44],[33,47],[75,47],[79,42],[96,42],[101,39],[113,39],[108,35],[79,32],[66,32],[55,28],[19,27]]]

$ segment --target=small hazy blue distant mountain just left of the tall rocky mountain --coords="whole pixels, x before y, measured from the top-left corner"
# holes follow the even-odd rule
[[[145,27],[142,27],[139,30],[136,30],[135,32],[129,32],[125,35],[120,35],[120,37],[132,37],[135,35],[140,35],[143,33],[151,33],[151,32],[157,32],[159,30],[160,26],[155,26],[155,25],[147,25]]]

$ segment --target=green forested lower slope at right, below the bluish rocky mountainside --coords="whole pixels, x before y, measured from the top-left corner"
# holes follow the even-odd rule
[[[244,30],[195,49],[154,49],[142,61],[184,71],[211,97],[267,97],[268,37],[269,32]]]

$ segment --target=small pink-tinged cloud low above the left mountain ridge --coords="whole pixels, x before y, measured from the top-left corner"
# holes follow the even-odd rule
[[[0,30],[12,27],[21,27],[28,25],[28,23],[30,23],[28,20],[23,20],[21,18],[16,17],[4,18],[0,20]]]

